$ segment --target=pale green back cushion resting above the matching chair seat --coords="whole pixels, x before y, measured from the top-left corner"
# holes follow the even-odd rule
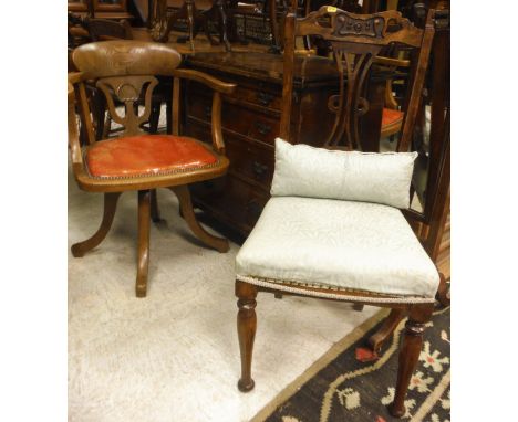
[[[332,151],[276,139],[273,197],[309,197],[410,207],[417,152]]]

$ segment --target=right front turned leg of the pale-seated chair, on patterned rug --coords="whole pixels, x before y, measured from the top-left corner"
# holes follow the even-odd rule
[[[425,324],[432,318],[433,310],[434,305],[426,304],[414,305],[410,312],[410,317],[405,325],[403,344],[400,350],[400,366],[397,369],[394,401],[388,407],[388,411],[395,418],[402,418],[406,412],[406,391],[408,390],[412,373],[419,358]]]

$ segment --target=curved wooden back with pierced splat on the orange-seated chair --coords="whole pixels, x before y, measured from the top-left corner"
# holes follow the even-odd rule
[[[164,44],[118,40],[84,44],[75,49],[73,62],[83,74],[82,80],[93,81],[104,94],[112,118],[124,127],[121,136],[131,136],[144,133],[141,124],[149,119],[152,94],[158,84],[156,76],[173,76],[182,56]],[[84,83],[80,82],[76,89],[81,122],[92,144],[94,135]],[[144,98],[142,115],[135,107],[139,98]],[[115,101],[124,104],[123,115],[116,109]],[[178,114],[175,109],[174,113]]]

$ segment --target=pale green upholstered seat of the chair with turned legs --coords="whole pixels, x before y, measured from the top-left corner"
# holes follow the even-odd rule
[[[400,210],[277,197],[236,257],[237,278],[433,299],[438,273]]]

